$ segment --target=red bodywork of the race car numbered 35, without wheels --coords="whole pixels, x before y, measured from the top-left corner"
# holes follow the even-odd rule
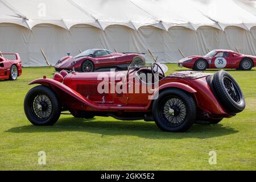
[[[208,67],[209,69],[214,69],[214,68],[233,68],[233,69],[238,69],[240,68],[240,62],[242,59],[245,58],[249,58],[252,62],[253,62],[253,67],[255,67],[256,65],[256,56],[250,56],[250,55],[243,55],[241,53],[238,52],[234,52],[234,51],[230,51],[230,50],[225,50],[225,49],[217,49],[214,50],[216,51],[216,54],[214,56],[188,56],[185,57],[184,59],[181,59],[178,61],[178,65],[180,67],[186,67],[186,68],[191,68],[194,69],[195,68],[195,63],[197,60],[199,59],[204,59],[207,61],[208,63]],[[226,56],[225,57],[216,57],[216,55],[218,55],[218,53],[220,52],[225,52]],[[226,61],[226,64],[218,64],[218,60],[219,58],[224,58]],[[218,66],[220,65],[220,66]]]

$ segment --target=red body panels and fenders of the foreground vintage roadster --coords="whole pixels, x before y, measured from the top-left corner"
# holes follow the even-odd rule
[[[134,85],[135,88],[147,88],[148,84],[139,80],[139,73],[150,72],[148,68],[130,71],[123,85]],[[213,95],[207,84],[206,77],[212,73],[201,73],[184,71],[173,73],[159,81],[159,87],[152,89],[152,93],[98,93],[97,86],[101,80],[98,80],[99,74],[108,76],[109,86],[117,85],[121,81],[120,72],[90,72],[90,73],[55,73],[53,79],[40,78],[30,82],[30,84],[41,84],[49,86],[55,91],[61,101],[63,110],[85,110],[92,111],[96,115],[107,115],[115,118],[131,115],[138,116],[150,115],[151,104],[154,100],[148,100],[148,96],[156,96],[168,88],[178,88],[191,94],[197,105],[198,117],[204,118],[229,118],[228,114],[220,102]],[[61,76],[62,75],[62,76]],[[135,78],[134,78],[135,77]],[[133,79],[132,79],[133,78]],[[113,81],[114,80],[114,81]],[[110,87],[109,87],[110,89]],[[157,98],[156,98],[157,99]],[[137,118],[137,119],[143,119]]]

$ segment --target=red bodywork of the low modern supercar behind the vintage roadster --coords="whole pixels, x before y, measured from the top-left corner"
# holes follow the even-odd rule
[[[137,53],[111,53],[106,56],[90,57],[84,56],[75,58],[72,56],[65,56],[61,58],[55,65],[56,71],[73,70],[81,71],[81,65],[85,60],[92,61],[94,65],[94,71],[103,69],[117,68],[127,69],[133,58],[139,56]],[[73,64],[75,63],[75,64]]]

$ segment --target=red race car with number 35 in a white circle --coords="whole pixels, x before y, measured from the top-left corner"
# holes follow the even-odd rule
[[[188,56],[178,61],[179,67],[199,71],[212,68],[234,68],[250,70],[256,65],[256,56],[243,55],[238,52],[216,49],[204,56]]]

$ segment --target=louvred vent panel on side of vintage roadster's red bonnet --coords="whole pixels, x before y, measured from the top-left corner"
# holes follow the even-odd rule
[[[80,93],[82,96],[108,96],[108,93],[98,93],[98,84],[77,84],[76,90],[78,93]]]

